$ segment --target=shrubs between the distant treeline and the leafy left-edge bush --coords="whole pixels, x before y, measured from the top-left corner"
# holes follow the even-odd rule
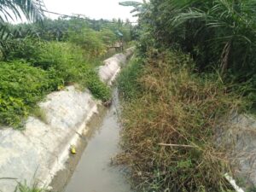
[[[12,51],[8,60],[25,60],[48,71],[54,79],[61,79],[63,84],[83,84],[96,98],[106,100],[110,97],[108,87],[102,84],[93,69],[98,65],[98,59],[87,58],[78,45],[27,38],[14,40],[9,47]]]

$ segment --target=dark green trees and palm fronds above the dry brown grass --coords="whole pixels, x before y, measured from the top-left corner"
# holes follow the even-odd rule
[[[255,1],[152,0],[142,6],[141,55],[152,47],[189,53],[198,73],[217,72],[226,83],[243,84],[255,108]]]

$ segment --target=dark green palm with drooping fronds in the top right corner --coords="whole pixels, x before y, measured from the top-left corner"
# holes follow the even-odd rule
[[[245,70],[243,76],[252,76],[256,62],[256,1],[215,0],[201,3],[201,0],[194,0],[193,3],[174,15],[169,26],[172,29],[187,27],[185,24],[188,21],[190,26],[191,23],[197,24],[195,30],[189,28],[197,42],[202,39],[202,33],[211,32],[203,44],[207,42],[211,52],[218,54],[215,56],[219,58],[221,72],[225,73],[230,68],[240,73]]]

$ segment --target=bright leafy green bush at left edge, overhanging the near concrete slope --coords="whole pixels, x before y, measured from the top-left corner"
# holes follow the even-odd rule
[[[37,102],[61,82],[52,72],[21,61],[0,62],[0,124],[20,128]]]

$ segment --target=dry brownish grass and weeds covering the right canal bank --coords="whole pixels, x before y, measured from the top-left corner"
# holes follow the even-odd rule
[[[214,129],[252,104],[218,73],[196,73],[189,55],[149,51],[119,76],[122,154],[138,191],[233,191]]]

